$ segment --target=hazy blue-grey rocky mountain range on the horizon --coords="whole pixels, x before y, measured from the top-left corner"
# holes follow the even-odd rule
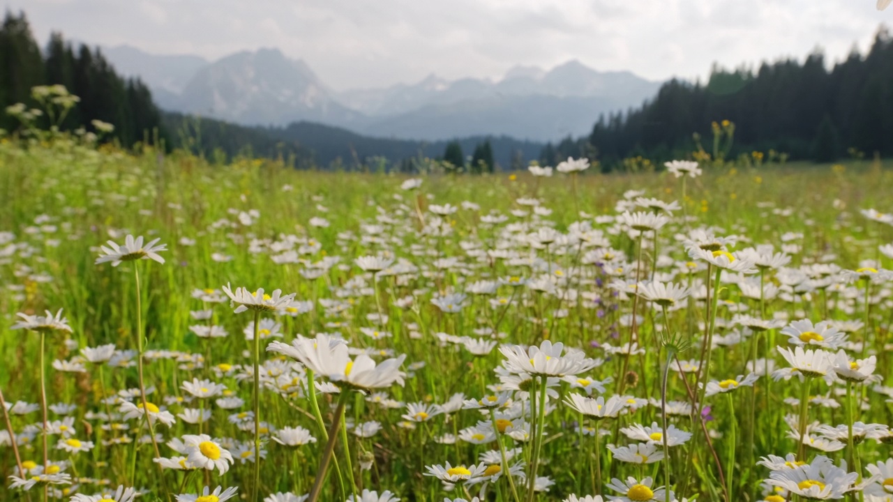
[[[578,61],[545,71],[516,66],[502,79],[447,80],[337,91],[279,49],[194,55],[104,48],[114,67],[137,76],[163,109],[243,125],[319,122],[378,138],[436,141],[508,136],[554,141],[586,134],[601,113],[641,105],[660,82],[629,71],[595,71]]]

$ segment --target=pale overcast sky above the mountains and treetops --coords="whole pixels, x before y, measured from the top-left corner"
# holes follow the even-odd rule
[[[331,88],[499,79],[569,60],[654,80],[864,51],[893,9],[875,0],[0,0],[41,45],[53,30],[98,46],[209,60],[277,47]]]

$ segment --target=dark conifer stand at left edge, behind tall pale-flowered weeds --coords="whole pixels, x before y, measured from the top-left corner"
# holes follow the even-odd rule
[[[146,85],[138,79],[121,78],[98,49],[83,45],[75,48],[54,33],[46,51],[41,51],[25,14],[7,12],[0,27],[0,129],[19,127],[15,118],[3,113],[7,106],[37,106],[31,88],[54,84],[79,97],[60,125],[62,130],[89,130],[92,121],[104,121],[115,128],[107,138],[132,146],[144,135],[152,139],[161,125],[161,113]],[[46,122],[48,118],[39,120]],[[49,125],[40,121],[38,125]]]

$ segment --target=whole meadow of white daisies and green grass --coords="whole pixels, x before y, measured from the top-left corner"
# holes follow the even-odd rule
[[[0,144],[2,500],[893,500],[893,176]]]

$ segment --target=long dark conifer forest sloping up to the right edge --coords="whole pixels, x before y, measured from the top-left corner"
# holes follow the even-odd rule
[[[893,41],[881,28],[868,54],[854,50],[829,71],[821,53],[803,63],[764,63],[757,71],[714,69],[706,85],[673,79],[654,99],[627,113],[602,116],[592,133],[547,145],[540,161],[597,151],[603,166],[643,155],[685,158],[709,153],[714,122],[734,123],[731,155],[785,152],[830,162],[844,155],[893,155]]]

